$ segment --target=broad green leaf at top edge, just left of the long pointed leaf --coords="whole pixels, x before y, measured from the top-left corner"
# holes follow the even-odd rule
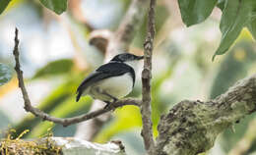
[[[178,0],[181,18],[186,26],[205,21],[212,13],[218,0]]]

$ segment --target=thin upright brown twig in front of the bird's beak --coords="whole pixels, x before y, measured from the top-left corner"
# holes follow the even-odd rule
[[[155,141],[152,129],[151,111],[151,78],[152,78],[152,52],[155,36],[155,6],[156,0],[151,0],[148,17],[148,34],[144,44],[144,70],[142,72],[142,106],[141,114],[143,121],[142,136],[145,148],[149,155],[154,155]]]

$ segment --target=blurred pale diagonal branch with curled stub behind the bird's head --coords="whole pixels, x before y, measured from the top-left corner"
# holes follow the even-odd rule
[[[91,33],[91,45],[105,53],[105,60],[129,51],[129,46],[143,23],[148,2],[148,0],[132,0],[125,16],[114,32],[99,29]]]

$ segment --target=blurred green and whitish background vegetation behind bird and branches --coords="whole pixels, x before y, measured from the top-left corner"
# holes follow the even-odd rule
[[[55,136],[83,138],[77,132],[81,125],[63,128],[42,122],[23,109],[23,98],[12,69],[15,26],[20,29],[21,61],[32,102],[55,117],[72,117],[90,110],[93,99],[84,97],[76,103],[76,88],[83,78],[103,63],[104,53],[90,44],[92,31],[115,30],[131,1],[77,0],[69,1],[68,6],[62,0],[53,6],[45,0],[12,0],[9,5],[9,1],[5,2],[6,5],[0,7],[1,136],[5,136],[8,129],[16,129],[17,134],[30,129],[26,138],[42,136],[49,130]],[[256,71],[253,0],[241,3],[239,0],[218,3],[209,0],[205,1],[206,4],[200,3],[203,5],[186,3],[185,0],[178,2],[179,7],[177,2],[159,0],[156,12],[152,103],[155,136],[160,114],[167,112],[173,104],[183,99],[214,98],[239,78]],[[57,14],[67,10],[59,16],[45,7]],[[199,23],[202,24],[192,26]],[[145,32],[146,17],[137,31],[131,52],[143,53]],[[212,62],[214,55],[224,54],[227,49],[228,53]],[[139,79],[131,96],[141,95]],[[139,109],[125,106],[115,110],[92,139],[96,142],[121,139],[130,154],[142,154],[141,126]],[[233,129],[226,129],[208,154],[237,154],[235,149],[238,146],[246,146],[243,147],[244,154],[255,153],[256,132],[252,131],[255,126],[254,114],[234,125]]]

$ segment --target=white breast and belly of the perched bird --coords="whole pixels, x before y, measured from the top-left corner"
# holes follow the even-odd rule
[[[101,91],[119,99],[128,95],[132,91],[133,78],[129,73],[127,73],[118,77],[102,79],[91,87],[90,95],[92,95],[94,98],[103,101],[111,101],[109,97],[98,93],[96,88],[100,88]]]

